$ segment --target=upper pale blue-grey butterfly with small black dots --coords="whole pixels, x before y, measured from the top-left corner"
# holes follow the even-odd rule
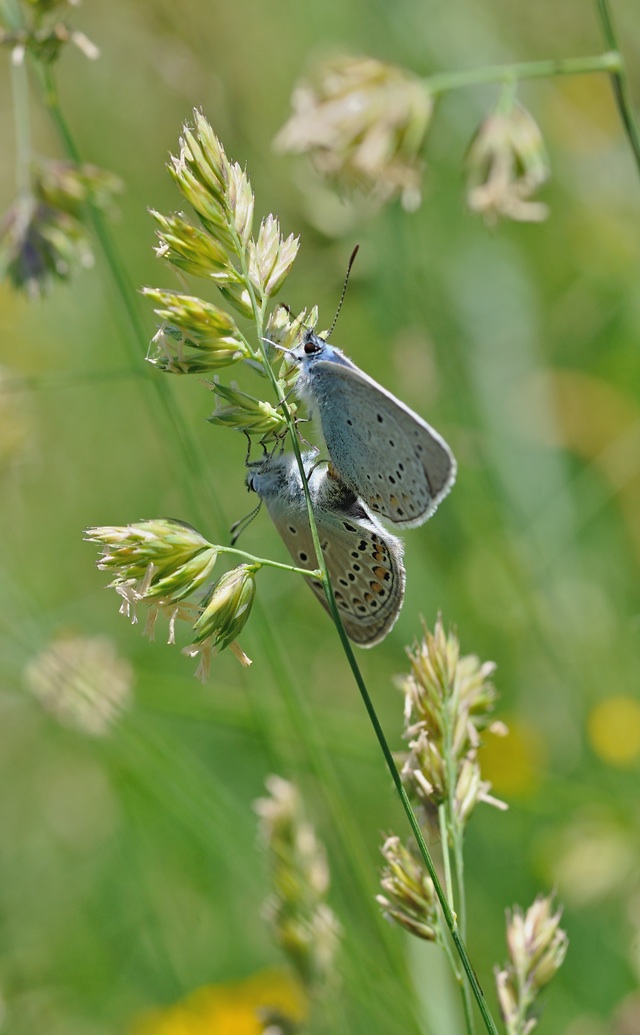
[[[313,331],[292,350],[338,474],[394,525],[421,525],[449,492],[456,461],[427,421]]]

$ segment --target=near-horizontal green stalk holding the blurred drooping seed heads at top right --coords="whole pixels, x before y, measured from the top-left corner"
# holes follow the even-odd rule
[[[605,3],[606,0],[599,0]],[[553,76],[585,76],[591,72],[620,73],[622,58],[617,48],[606,54],[585,58],[557,58],[546,61],[521,61],[515,64],[486,65],[462,71],[443,71],[423,80],[430,93],[444,93],[483,83],[511,83],[522,79],[549,79]]]

